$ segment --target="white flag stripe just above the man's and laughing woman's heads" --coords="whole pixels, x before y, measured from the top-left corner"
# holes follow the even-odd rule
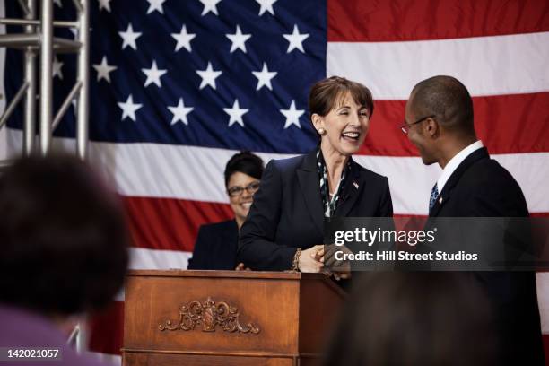
[[[542,45],[549,45],[549,32],[407,42],[328,42],[327,75],[364,83],[375,100],[407,100],[416,83],[439,74],[457,77],[473,96],[547,92],[549,47]]]

